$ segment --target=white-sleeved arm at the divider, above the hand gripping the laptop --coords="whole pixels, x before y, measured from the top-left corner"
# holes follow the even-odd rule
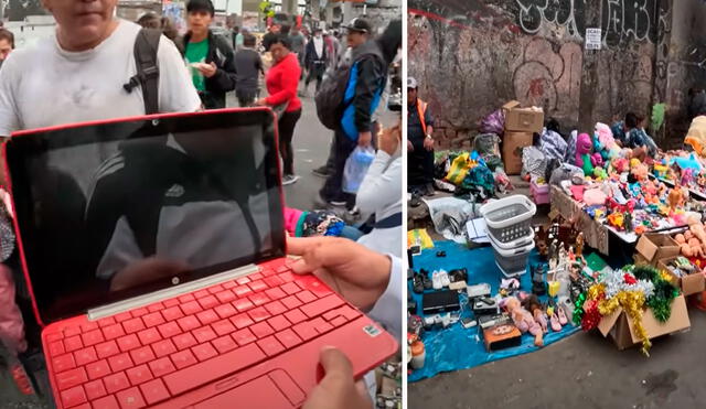
[[[402,160],[389,163],[391,157],[382,149],[367,169],[355,196],[355,205],[364,215],[370,215],[388,203],[399,201],[402,195]],[[389,166],[387,164],[389,163]],[[385,169],[387,168],[387,169]]]

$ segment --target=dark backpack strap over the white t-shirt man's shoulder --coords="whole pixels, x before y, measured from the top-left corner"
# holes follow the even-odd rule
[[[128,93],[138,86],[142,87],[142,99],[145,100],[145,114],[157,114],[159,111],[159,62],[157,50],[162,33],[156,29],[142,29],[135,39],[135,74],[122,87]]]

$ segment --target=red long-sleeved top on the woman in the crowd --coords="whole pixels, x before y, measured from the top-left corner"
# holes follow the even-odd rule
[[[300,109],[301,101],[297,97],[300,76],[301,68],[295,53],[289,53],[282,61],[272,65],[265,77],[269,94],[269,97],[265,99],[267,105],[277,106],[289,101],[287,112]]]

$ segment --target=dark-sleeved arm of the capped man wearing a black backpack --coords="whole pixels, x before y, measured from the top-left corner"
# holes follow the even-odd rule
[[[355,128],[359,132],[371,132],[371,105],[381,80],[385,77],[381,64],[373,57],[357,63],[357,83],[353,106],[355,107]]]

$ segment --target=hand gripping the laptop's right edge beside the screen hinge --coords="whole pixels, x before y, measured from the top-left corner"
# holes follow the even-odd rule
[[[312,273],[362,311],[370,311],[389,283],[389,257],[339,237],[287,239],[287,252],[302,258],[291,265]]]

